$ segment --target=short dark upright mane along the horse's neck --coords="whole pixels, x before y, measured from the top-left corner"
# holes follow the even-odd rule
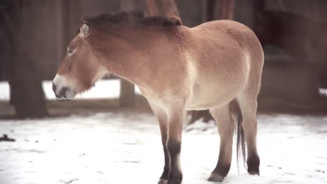
[[[116,26],[144,25],[165,27],[182,25],[179,17],[146,17],[143,11],[140,10],[85,15],[82,17],[82,22],[86,22],[88,24],[108,23]]]

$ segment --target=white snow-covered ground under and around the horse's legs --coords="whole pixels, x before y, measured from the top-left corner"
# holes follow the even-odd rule
[[[156,118],[133,112],[0,120],[0,183],[157,183],[163,152]],[[259,115],[261,176],[239,171],[224,183],[327,183],[327,116]],[[235,146],[234,146],[235,147]],[[214,123],[184,130],[183,183],[206,181],[219,137]]]

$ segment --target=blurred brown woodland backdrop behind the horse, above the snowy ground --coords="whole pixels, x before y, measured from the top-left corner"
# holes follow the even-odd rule
[[[190,27],[220,19],[246,24],[266,54],[259,112],[327,113],[327,1],[1,0],[0,118],[150,110],[138,89],[113,76],[76,100],[56,101],[51,90],[82,15],[133,9],[177,15]],[[202,116],[210,118],[193,112],[192,121]]]

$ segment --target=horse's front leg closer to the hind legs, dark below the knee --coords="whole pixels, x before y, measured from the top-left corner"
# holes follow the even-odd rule
[[[168,116],[167,150],[169,154],[168,184],[182,183],[182,170],[180,169],[180,151],[182,144],[182,128],[184,108],[170,108]]]

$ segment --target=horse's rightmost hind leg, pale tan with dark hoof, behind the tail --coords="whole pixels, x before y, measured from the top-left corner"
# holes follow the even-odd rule
[[[256,94],[256,93],[255,93]],[[247,143],[247,171],[249,174],[259,175],[260,159],[256,150],[256,95],[242,93],[238,98],[240,111],[242,113],[242,128],[245,133]]]

